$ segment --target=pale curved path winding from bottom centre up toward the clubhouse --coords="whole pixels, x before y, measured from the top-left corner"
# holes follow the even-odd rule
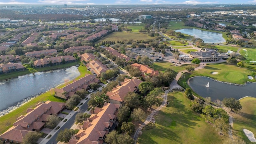
[[[195,68],[195,70],[199,70],[199,69],[202,69],[204,68],[206,64],[200,64],[200,66],[198,66],[197,68]],[[184,70],[182,71],[183,73],[185,72],[188,72],[187,70]],[[164,107],[166,105],[166,102],[167,102],[167,96],[168,96],[168,93],[174,89],[174,88],[182,88],[180,85],[178,85],[178,80],[180,79],[180,77],[182,76],[182,72],[179,72],[176,76],[176,78],[172,81],[172,83],[170,84],[170,88],[168,90],[166,90],[166,92],[164,93],[163,97],[164,97],[164,100],[161,104],[161,106],[159,106],[156,110],[154,110],[153,112],[151,112],[151,114],[146,118],[145,122],[143,122],[140,127],[136,130],[134,136],[133,136],[133,139],[135,140],[134,144],[136,144],[137,142],[137,139],[138,139],[138,136],[139,136],[139,133],[140,131],[142,130],[142,128],[144,126],[146,126],[146,124],[148,124],[153,116],[156,114],[156,112],[158,112],[159,110],[161,110],[162,107]]]

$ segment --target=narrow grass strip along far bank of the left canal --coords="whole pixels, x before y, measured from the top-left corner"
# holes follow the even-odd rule
[[[43,71],[47,71],[47,70],[54,70],[54,69],[58,69],[58,68],[67,68],[70,66],[75,66],[77,64],[77,62],[72,62],[72,63],[67,63],[67,64],[59,64],[56,66],[47,66],[44,68],[27,68],[24,71],[19,71],[19,72],[10,72],[7,74],[1,74],[0,76],[0,80],[7,80],[10,78],[15,78],[18,76],[23,76],[26,74],[31,74],[31,73],[35,73],[35,72],[43,72]]]

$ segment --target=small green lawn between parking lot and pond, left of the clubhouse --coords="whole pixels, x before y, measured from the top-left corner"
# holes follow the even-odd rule
[[[168,61],[160,61],[154,62],[154,70],[158,70],[159,72],[164,72],[167,68],[175,70],[176,72],[181,72],[185,69],[185,66],[174,66],[173,63]]]

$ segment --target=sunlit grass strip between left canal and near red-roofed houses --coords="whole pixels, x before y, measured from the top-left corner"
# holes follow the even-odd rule
[[[80,76],[78,76],[76,79],[79,79],[83,77],[85,74],[91,74],[90,71],[87,71],[87,68],[84,66],[79,66],[78,70],[80,72]],[[68,82],[71,83],[71,82]],[[68,84],[66,83],[66,84]],[[66,84],[63,84],[60,87],[64,87]],[[36,104],[39,102],[43,102],[46,100],[56,101],[56,102],[65,102],[62,98],[56,98],[53,96],[54,89],[51,89],[40,96],[37,96],[36,98],[33,98],[29,102],[23,104],[19,108],[13,110],[12,112],[5,114],[4,116],[0,117],[0,133],[5,132],[8,130],[8,128],[12,127],[12,124],[16,121],[16,118],[18,118],[20,115],[25,115],[28,108],[34,108]]]

